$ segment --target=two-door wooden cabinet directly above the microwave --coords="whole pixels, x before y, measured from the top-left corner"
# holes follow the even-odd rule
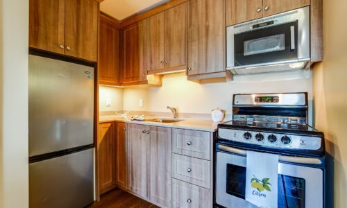
[[[226,25],[310,5],[310,0],[226,0]]]

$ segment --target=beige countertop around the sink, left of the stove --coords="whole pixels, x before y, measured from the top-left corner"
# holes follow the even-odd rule
[[[153,121],[131,121],[131,116],[119,116],[119,115],[110,115],[110,116],[100,116],[99,123],[107,123],[107,122],[125,122],[125,123],[135,123],[142,125],[155,125],[162,127],[170,127],[170,128],[182,128],[189,130],[202,130],[208,132],[217,131],[218,123],[209,120],[201,120],[201,119],[183,119],[183,121],[178,121],[176,123],[158,123]],[[154,116],[146,116],[146,120],[158,119],[158,117]]]

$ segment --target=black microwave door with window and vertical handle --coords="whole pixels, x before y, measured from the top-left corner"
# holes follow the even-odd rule
[[[298,59],[298,21],[234,36],[235,67]]]

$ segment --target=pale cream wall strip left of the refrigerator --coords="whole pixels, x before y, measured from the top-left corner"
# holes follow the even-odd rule
[[[28,1],[0,0],[0,207],[28,207]]]

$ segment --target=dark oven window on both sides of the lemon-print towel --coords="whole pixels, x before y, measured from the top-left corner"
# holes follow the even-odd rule
[[[245,199],[246,168],[227,164],[226,192]],[[305,180],[278,174],[278,208],[305,208]]]

